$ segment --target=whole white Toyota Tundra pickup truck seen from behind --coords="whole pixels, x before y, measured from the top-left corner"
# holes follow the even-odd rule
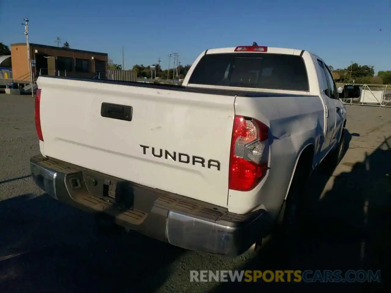
[[[281,215],[289,225],[313,168],[341,157],[346,109],[325,62],[305,50],[205,50],[182,86],[37,84],[34,182],[190,250],[242,254]]]

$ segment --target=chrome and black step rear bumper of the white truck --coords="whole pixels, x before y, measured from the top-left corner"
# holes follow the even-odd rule
[[[263,210],[233,214],[219,206],[41,155],[30,159],[30,168],[35,184],[56,200],[84,211],[109,214],[118,225],[189,250],[235,257],[259,239],[266,223]],[[116,182],[117,189],[125,184],[131,205],[97,194],[103,181]]]

